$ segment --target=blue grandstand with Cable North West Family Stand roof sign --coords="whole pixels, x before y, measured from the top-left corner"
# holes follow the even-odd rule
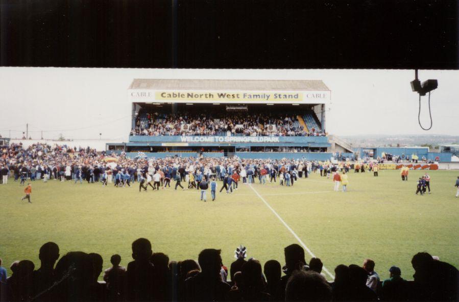
[[[134,79],[129,142],[107,150],[149,157],[353,157],[350,146],[326,131],[330,100],[322,80]]]

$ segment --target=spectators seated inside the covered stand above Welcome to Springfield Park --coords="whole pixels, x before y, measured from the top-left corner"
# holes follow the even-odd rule
[[[183,127],[186,125],[185,127]],[[274,127],[273,127],[274,126]],[[318,129],[306,131],[296,115],[225,113],[141,114],[130,135],[244,135],[323,136]]]

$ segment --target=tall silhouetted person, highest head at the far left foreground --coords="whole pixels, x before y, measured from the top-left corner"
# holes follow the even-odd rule
[[[50,301],[52,296],[47,292],[47,289],[56,281],[54,265],[59,259],[59,246],[54,242],[46,242],[40,248],[38,254],[41,265],[40,268],[34,271],[34,300]]]

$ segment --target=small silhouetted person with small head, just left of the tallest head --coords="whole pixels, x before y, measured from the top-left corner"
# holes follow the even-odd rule
[[[104,271],[104,281],[107,284],[108,300],[119,301],[122,299],[126,267],[120,266],[121,256],[115,254],[110,258],[112,267]]]

